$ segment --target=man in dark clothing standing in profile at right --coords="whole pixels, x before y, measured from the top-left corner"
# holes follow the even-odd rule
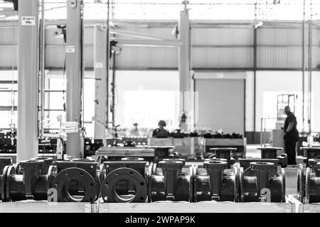
[[[296,143],[299,140],[297,118],[292,114],[290,107],[284,108],[287,118],[284,121],[284,150],[288,156],[288,165],[296,165]]]

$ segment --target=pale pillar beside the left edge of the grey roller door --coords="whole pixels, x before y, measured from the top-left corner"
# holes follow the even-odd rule
[[[180,111],[179,115],[183,112],[186,113],[187,121],[190,122],[191,115],[191,28],[189,21],[188,9],[180,12],[179,20],[179,38],[182,45],[178,48],[178,70],[179,70],[179,90],[180,90]],[[180,116],[181,117],[181,116]],[[190,128],[190,123],[188,123]],[[184,129],[188,129],[184,128]]]

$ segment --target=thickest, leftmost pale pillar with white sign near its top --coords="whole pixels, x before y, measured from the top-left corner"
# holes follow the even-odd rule
[[[38,0],[18,1],[17,161],[38,157]]]

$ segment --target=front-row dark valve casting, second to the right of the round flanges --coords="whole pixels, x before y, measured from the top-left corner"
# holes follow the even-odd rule
[[[197,169],[193,181],[193,199],[198,201],[238,201],[238,168],[227,170],[228,162],[209,160]]]

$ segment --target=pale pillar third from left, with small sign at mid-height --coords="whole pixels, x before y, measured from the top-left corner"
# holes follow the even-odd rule
[[[105,142],[107,116],[107,26],[95,26],[95,139]]]

